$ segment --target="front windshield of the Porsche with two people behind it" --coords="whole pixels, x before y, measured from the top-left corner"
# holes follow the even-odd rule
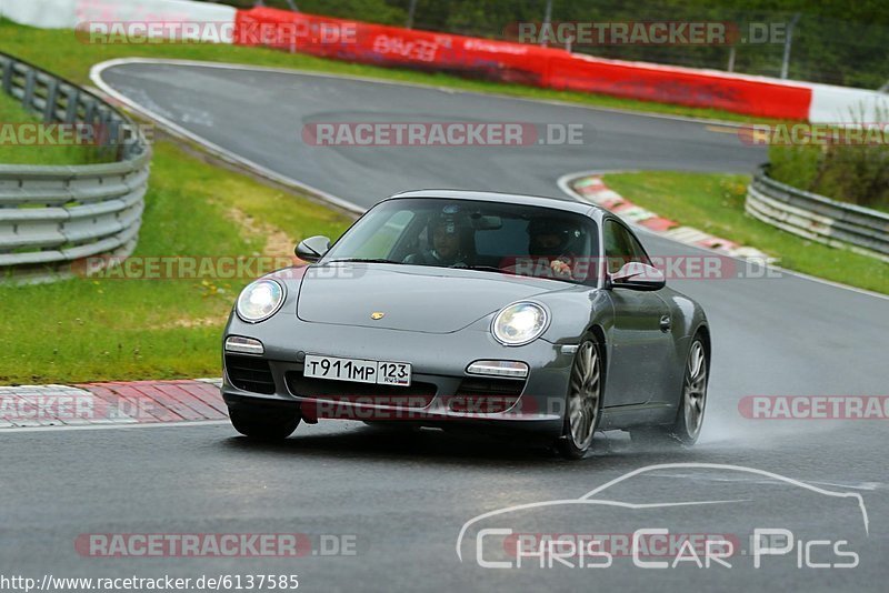
[[[597,237],[595,221],[561,210],[406,198],[370,210],[321,263],[463,268],[595,284]]]

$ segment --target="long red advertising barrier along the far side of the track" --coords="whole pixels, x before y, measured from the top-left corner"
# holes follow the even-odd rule
[[[752,77],[572,54],[528,43],[417,31],[269,8],[238,11],[234,42],[380,66],[806,120],[811,89]]]

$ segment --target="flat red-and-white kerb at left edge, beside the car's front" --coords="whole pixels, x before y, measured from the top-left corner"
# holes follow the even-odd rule
[[[221,380],[132,381],[0,388],[0,434],[181,423],[221,423]]]

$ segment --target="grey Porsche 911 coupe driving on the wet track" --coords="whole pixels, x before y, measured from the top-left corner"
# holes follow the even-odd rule
[[[309,265],[247,287],[226,326],[222,394],[247,436],[319,419],[475,426],[571,459],[597,430],[698,439],[705,313],[606,210],[400,193],[297,254]]]

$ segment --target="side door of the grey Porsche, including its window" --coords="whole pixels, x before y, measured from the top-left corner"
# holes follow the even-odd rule
[[[602,233],[609,275],[629,262],[651,264],[641,243],[617,219],[607,218]],[[608,291],[615,310],[605,402],[608,406],[641,404],[659,395],[663,366],[670,360],[672,320],[658,292],[626,288]]]

